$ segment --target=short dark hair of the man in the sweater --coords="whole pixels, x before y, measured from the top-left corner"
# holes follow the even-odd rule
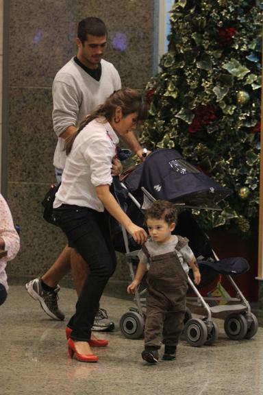
[[[82,44],[87,40],[87,34],[91,36],[107,36],[108,32],[105,23],[95,16],[82,19],[77,26],[77,37],[81,40]]]

